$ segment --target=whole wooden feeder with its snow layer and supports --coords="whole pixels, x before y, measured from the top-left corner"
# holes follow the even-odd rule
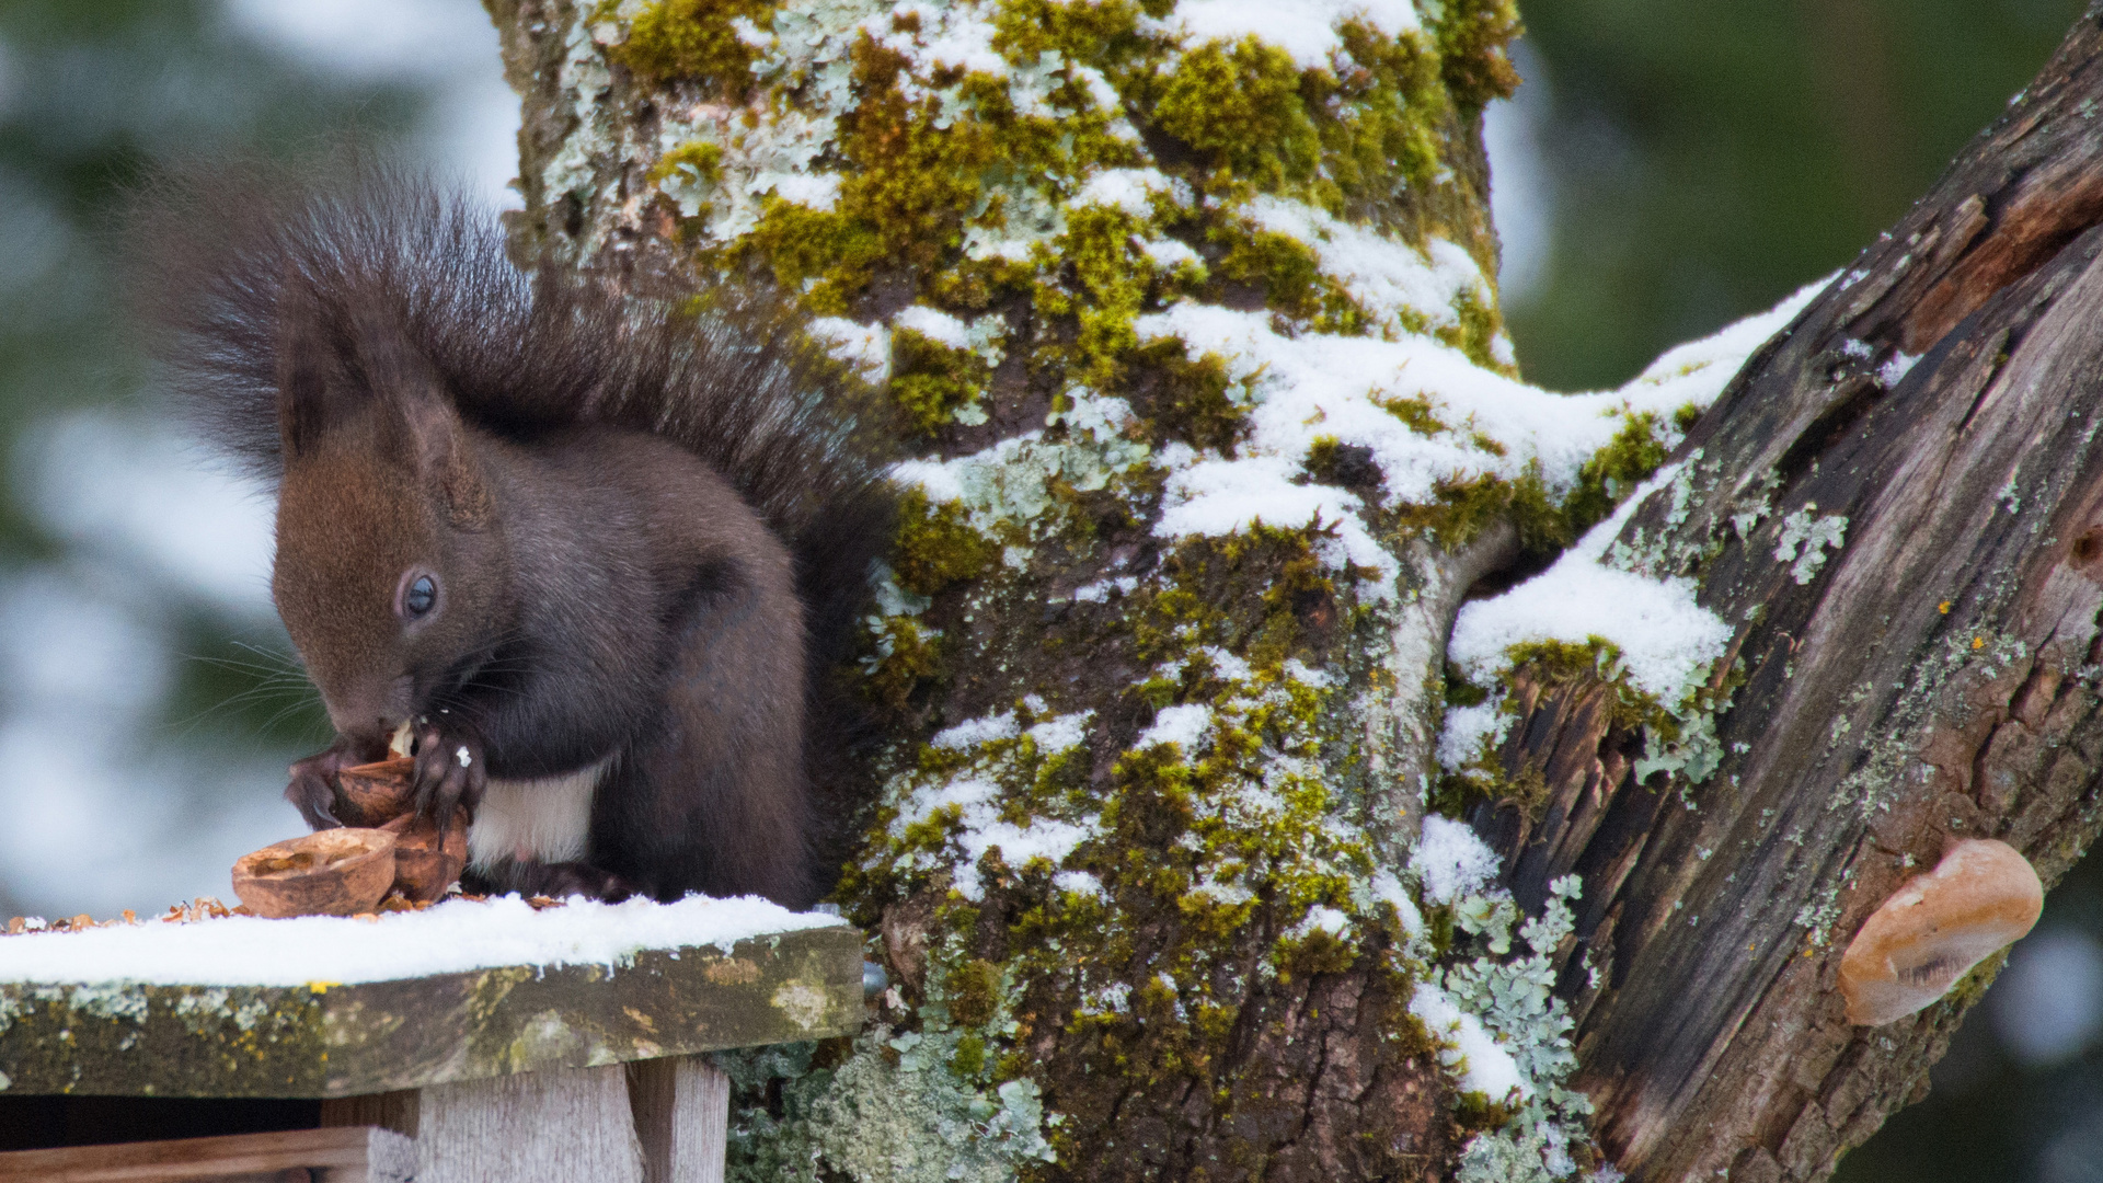
[[[696,1052],[862,1019],[862,935],[759,899],[179,920],[0,937],[0,1181],[719,1179]]]

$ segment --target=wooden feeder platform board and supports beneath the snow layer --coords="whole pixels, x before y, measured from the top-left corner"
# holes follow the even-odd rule
[[[730,1082],[700,1052],[860,1023],[845,924],[345,985],[0,983],[0,1183],[713,1183]]]

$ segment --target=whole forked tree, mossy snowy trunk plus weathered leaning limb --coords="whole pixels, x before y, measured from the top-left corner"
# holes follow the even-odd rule
[[[2086,844],[2095,602],[2050,570],[2086,530],[2059,408],[2088,215],[2048,210],[2088,206],[2078,171],[1996,173],[2086,164],[2063,88],[1682,440],[1785,314],[1619,392],[1516,381],[1478,122],[1516,82],[1502,0],[488,4],[522,261],[776,286],[919,457],[837,893],[898,985],[852,1046],[730,1063],[740,1177],[1815,1177],[1956,1017],[1884,1044],[1817,989],[1891,859],[1956,791],[2048,874]],[[1926,354],[1903,381],[1897,349]],[[1632,642],[1548,627],[1449,671],[1470,589],[1674,448],[1600,562],[1727,646],[1638,684],[1600,661]],[[1931,455],[1952,493],[1886,503]],[[1788,522],[1809,581],[1771,558]],[[1872,751],[1943,718],[1935,756]],[[1426,806],[1502,838],[1510,895]]]

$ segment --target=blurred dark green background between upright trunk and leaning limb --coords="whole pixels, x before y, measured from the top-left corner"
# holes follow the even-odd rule
[[[1518,6],[1520,72],[1535,93],[1516,107],[1535,128],[1531,187],[1546,189],[1552,229],[1546,244],[1523,244],[1531,269],[1506,290],[1506,314],[1527,377],[1552,389],[1617,385],[1663,347],[1846,263],[2029,82],[2082,11],[2078,0]]]

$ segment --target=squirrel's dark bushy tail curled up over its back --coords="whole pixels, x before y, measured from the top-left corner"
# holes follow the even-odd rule
[[[812,678],[837,686],[866,570],[890,541],[883,400],[810,345],[778,301],[595,276],[526,276],[494,210],[402,164],[339,158],[315,177],[210,160],[132,200],[132,303],[189,419],[265,482],[282,472],[278,337],[288,284],[324,324],[395,320],[461,415],[530,444],[583,425],[679,442],[789,539]],[[864,728],[812,703],[814,773]],[[833,730],[826,739],[820,733]]]

